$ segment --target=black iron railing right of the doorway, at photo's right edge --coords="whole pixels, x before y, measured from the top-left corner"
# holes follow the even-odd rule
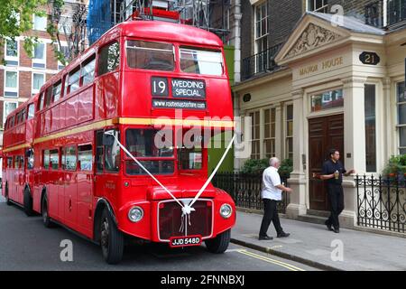
[[[406,180],[356,176],[358,226],[406,232]]]

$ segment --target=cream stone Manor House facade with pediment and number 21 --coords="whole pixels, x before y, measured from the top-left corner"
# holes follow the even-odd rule
[[[280,2],[284,7],[293,3]],[[346,168],[368,176],[382,173],[391,155],[406,154],[406,1],[294,3],[291,12],[280,10],[272,22],[272,7],[277,11],[272,0],[245,4],[243,23],[250,14],[254,33],[248,41],[242,33],[245,58],[242,81],[233,87],[235,111],[252,118],[251,158],[293,160],[288,216],[317,219],[326,215],[328,200],[313,173],[320,172],[328,149],[337,148]],[[257,15],[259,5],[270,9],[267,16]],[[371,5],[379,21],[371,20]],[[331,9],[342,9],[344,16],[328,13]],[[268,18],[268,41],[262,47],[256,37],[258,16]],[[289,18],[291,23],[283,24]],[[235,160],[235,170],[245,160]],[[354,227],[353,177],[345,179],[344,188],[343,225]]]

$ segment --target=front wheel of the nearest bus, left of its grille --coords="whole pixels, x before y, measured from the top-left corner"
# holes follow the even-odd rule
[[[100,219],[100,246],[106,263],[120,263],[124,254],[124,236],[107,209],[103,210]]]

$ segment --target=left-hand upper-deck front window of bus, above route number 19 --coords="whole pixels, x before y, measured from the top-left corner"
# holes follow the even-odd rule
[[[127,65],[133,69],[173,71],[173,45],[162,42],[127,41]]]

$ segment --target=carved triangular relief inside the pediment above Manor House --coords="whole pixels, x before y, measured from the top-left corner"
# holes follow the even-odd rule
[[[337,33],[315,25],[314,23],[309,23],[308,27],[301,33],[299,39],[292,46],[291,51],[286,54],[285,58],[291,58],[328,43],[336,42],[340,38],[342,38],[342,36]]]

